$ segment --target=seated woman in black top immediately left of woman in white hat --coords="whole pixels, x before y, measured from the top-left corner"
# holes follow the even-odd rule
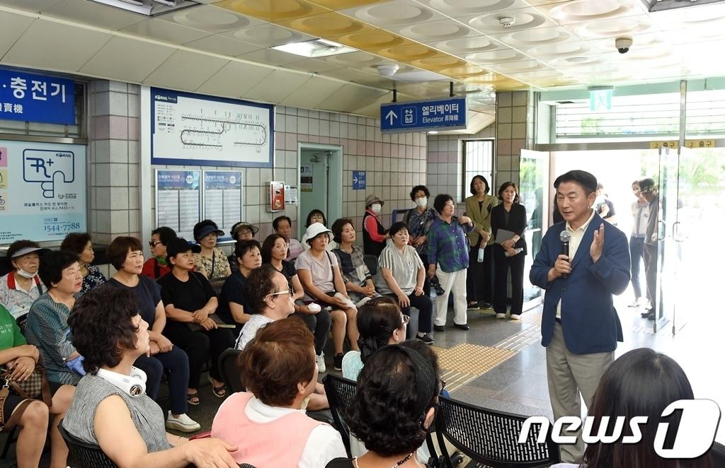
[[[307,325],[313,335],[315,335],[315,356],[318,359],[318,367],[320,372],[325,372],[325,360],[322,359],[323,350],[327,344],[327,338],[330,334],[331,317],[327,309],[321,307],[312,307],[302,303],[301,299],[305,296],[302,290],[302,283],[299,281],[297,269],[292,262],[286,260],[288,244],[280,234],[270,234],[262,243],[262,262],[270,264],[274,269],[287,278],[292,291],[294,291],[294,317],[299,317]],[[297,302],[299,301],[299,303]],[[320,310],[318,310],[320,309]],[[320,363],[322,365],[320,365]]]

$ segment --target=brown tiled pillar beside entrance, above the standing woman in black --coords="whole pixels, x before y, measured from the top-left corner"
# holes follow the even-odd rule
[[[496,180],[518,184],[521,149],[534,144],[534,99],[531,91],[496,94]]]

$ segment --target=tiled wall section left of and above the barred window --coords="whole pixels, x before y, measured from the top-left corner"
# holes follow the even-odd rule
[[[475,135],[428,135],[428,190],[448,193],[460,202],[463,186],[463,141],[494,138],[494,125]],[[468,184],[468,182],[466,182]],[[468,196],[468,191],[465,193]]]

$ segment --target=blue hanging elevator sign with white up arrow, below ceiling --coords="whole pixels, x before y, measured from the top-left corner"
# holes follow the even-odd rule
[[[380,130],[452,130],[465,128],[465,98],[438,101],[389,103],[380,106]]]

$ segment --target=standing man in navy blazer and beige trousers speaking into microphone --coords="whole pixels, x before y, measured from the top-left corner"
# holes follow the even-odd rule
[[[622,327],[612,296],[629,284],[629,246],[624,233],[592,209],[597,178],[573,170],[554,182],[564,218],[547,230],[529,278],[546,290],[542,346],[547,348],[547,380],[555,419],[581,416],[581,399],[589,406],[600,377],[614,359]],[[560,234],[568,231],[569,254],[562,254]],[[581,463],[581,430],[576,444],[562,445],[562,461]]]

